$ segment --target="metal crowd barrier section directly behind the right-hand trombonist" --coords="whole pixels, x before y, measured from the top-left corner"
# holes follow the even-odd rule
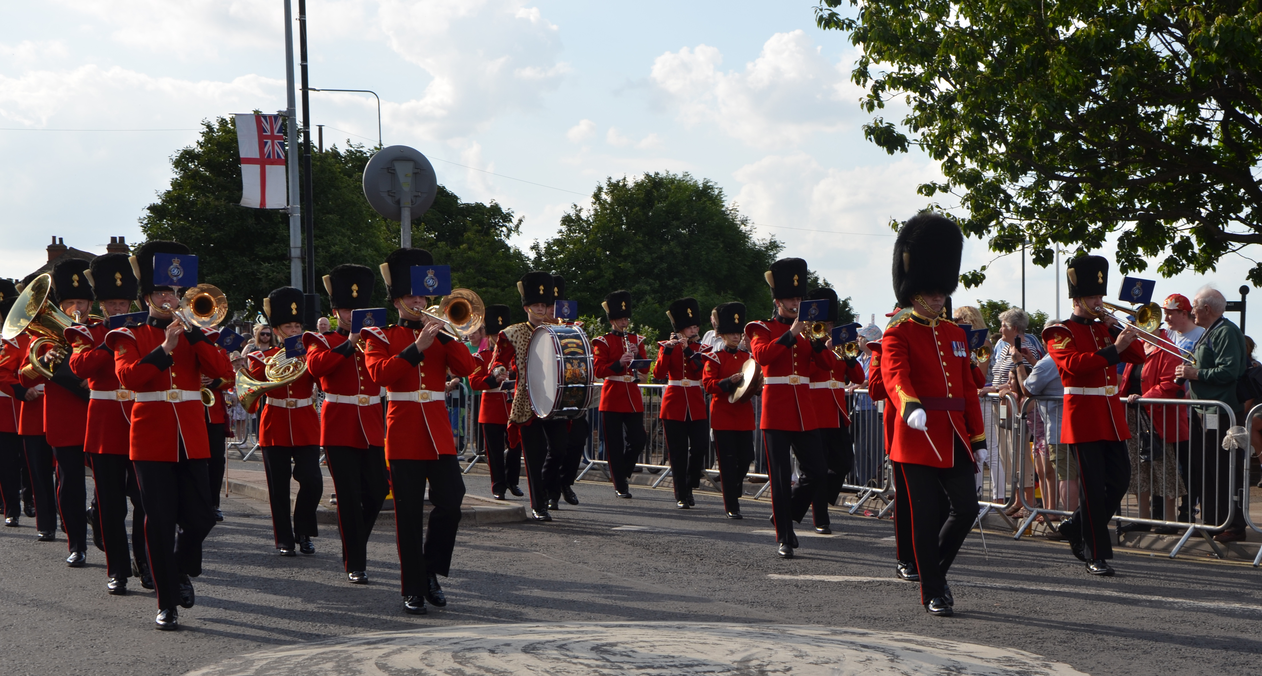
[[[1078,463],[1069,444],[1060,443],[1063,401],[1036,396],[1021,405],[1018,444],[1013,446],[1021,453],[1013,488],[1037,483],[1039,499],[1032,487],[1017,491],[1027,516],[1013,539],[1020,539],[1036,518],[1050,522],[1071,515],[1082,498]],[[1243,449],[1222,448],[1223,436],[1235,425],[1235,414],[1222,401],[1140,399],[1126,405],[1126,417],[1131,481],[1113,518],[1171,535],[1182,531],[1170,551],[1171,559],[1194,533],[1204,537],[1219,559],[1224,557],[1213,535],[1232,525],[1239,488],[1248,486],[1248,468],[1239,463]],[[1035,475],[1037,482],[1031,482]],[[1247,503],[1243,511],[1246,522],[1253,526]]]

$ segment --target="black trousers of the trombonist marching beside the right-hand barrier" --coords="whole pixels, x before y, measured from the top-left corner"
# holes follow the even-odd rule
[[[1108,522],[1122,506],[1131,484],[1131,458],[1126,441],[1087,441],[1073,444],[1073,449],[1082,486],[1082,498],[1073,520],[1082,528],[1083,555],[1088,561],[1112,559]]]

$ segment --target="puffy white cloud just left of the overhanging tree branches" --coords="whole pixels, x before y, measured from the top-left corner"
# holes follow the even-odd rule
[[[829,63],[803,30],[772,35],[745,71],[723,72],[722,62],[713,47],[684,47],[658,57],[650,78],[685,125],[716,125],[762,149],[840,130],[859,112],[848,63]]]

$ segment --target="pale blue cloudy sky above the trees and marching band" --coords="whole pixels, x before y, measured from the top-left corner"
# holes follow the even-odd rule
[[[90,251],[111,235],[139,240],[136,219],[201,120],[284,107],[281,8],[10,4],[0,26],[0,276],[35,267],[50,236]],[[808,1],[312,0],[308,15],[312,86],[377,91],[385,143],[420,149],[462,198],[522,216],[522,247],[551,236],[604,177],[690,172],[853,296],[864,320],[892,304],[886,222],[925,206],[915,185],[936,166],[863,140],[856,52],[814,26]],[[367,95],[313,93],[312,119],[326,125],[326,145],[376,139]],[[965,267],[991,259],[983,242],[965,247]],[[1249,265],[1233,256],[1205,279],[1159,280],[1157,298],[1205,281],[1235,298]],[[955,303],[1018,303],[1020,275],[1020,256],[1001,259]],[[1030,309],[1054,310],[1053,280],[1027,267]]]

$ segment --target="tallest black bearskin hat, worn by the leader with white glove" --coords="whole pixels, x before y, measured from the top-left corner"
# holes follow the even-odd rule
[[[893,295],[911,306],[916,294],[952,295],[959,286],[964,233],[940,213],[923,211],[902,224],[893,241]]]

